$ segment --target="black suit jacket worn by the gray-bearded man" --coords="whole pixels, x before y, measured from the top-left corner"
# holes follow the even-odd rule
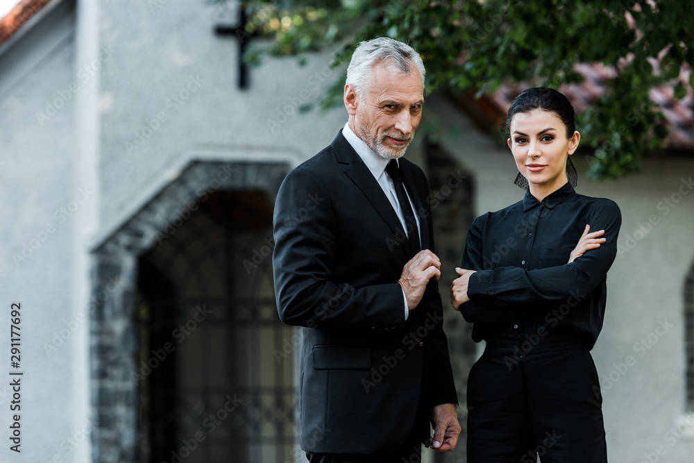
[[[434,251],[429,186],[400,158],[403,183]],[[410,430],[420,397],[457,403],[437,281],[405,321],[398,278],[412,258],[378,182],[340,132],[287,175],[273,217],[273,271],[280,319],[305,326],[299,385],[301,448],[384,453]],[[424,380],[422,380],[424,379]],[[429,413],[428,413],[429,414]]]

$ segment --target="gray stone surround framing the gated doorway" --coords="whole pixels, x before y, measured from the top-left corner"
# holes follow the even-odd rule
[[[94,462],[138,461],[137,260],[222,190],[262,190],[273,203],[284,163],[195,161],[94,251],[90,376]]]

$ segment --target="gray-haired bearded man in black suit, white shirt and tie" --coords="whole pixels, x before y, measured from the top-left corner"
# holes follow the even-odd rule
[[[310,462],[420,461],[423,442],[451,451],[460,432],[429,186],[403,158],[424,76],[407,44],[359,44],[347,124],[277,196],[275,292],[280,319],[306,327],[299,409]]]

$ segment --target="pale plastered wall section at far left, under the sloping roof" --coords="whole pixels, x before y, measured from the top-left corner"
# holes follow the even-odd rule
[[[78,178],[78,75],[71,2],[0,51],[0,428],[4,462],[85,462],[89,455],[87,314],[71,291],[74,239],[96,185]],[[87,64],[87,63],[85,63]],[[86,282],[83,282],[83,284]],[[20,367],[10,366],[10,305],[21,304]],[[10,377],[10,371],[24,376]],[[21,410],[10,410],[21,378]],[[21,453],[10,450],[19,415]]]

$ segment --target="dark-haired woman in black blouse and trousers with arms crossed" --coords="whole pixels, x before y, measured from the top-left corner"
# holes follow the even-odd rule
[[[486,340],[468,377],[468,463],[607,462],[590,351],[620,210],[574,191],[581,135],[566,96],[525,90],[507,129],[525,197],[475,219],[450,289],[473,340]]]

